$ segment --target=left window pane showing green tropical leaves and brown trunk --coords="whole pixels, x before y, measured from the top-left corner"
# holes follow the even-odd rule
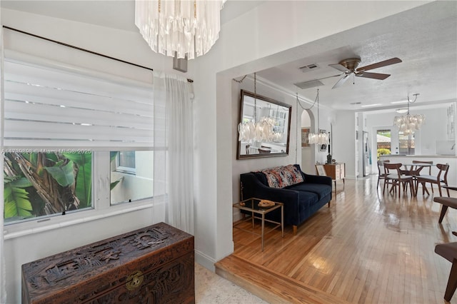
[[[5,153],[5,223],[92,207],[92,155],[86,152]]]

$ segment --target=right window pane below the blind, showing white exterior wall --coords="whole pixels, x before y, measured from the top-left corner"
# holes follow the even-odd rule
[[[154,151],[111,151],[110,158],[111,205],[154,196]],[[119,164],[133,166],[134,171]]]

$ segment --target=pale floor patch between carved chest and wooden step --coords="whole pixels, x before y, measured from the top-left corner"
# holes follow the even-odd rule
[[[267,303],[199,263],[195,263],[195,302],[201,304]]]

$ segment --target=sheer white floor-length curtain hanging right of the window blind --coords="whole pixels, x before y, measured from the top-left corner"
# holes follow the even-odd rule
[[[163,111],[161,101],[165,101],[166,111],[165,137],[154,134],[154,146],[156,138],[162,138],[167,147],[166,162],[160,158],[157,161],[161,163],[156,164],[154,152],[154,171],[166,163],[165,218],[171,226],[194,234],[194,113],[190,91],[186,78],[154,72],[154,111]],[[154,126],[155,132],[158,127]]]

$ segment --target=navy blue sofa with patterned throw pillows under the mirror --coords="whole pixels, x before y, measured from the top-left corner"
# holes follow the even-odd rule
[[[241,200],[261,198],[284,203],[284,224],[297,227],[328,203],[332,197],[332,181],[328,176],[303,173],[298,164],[266,168],[242,173]],[[281,213],[267,213],[267,219],[281,221]]]

